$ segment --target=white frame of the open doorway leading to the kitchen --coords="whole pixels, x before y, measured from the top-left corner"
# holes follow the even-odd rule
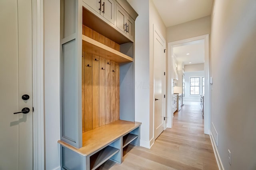
[[[168,81],[167,81],[167,127],[172,128],[173,122],[173,110],[172,110],[172,80],[173,78],[173,48],[178,46],[178,44],[204,40],[204,133],[210,133],[210,61],[209,61],[209,34],[202,36],[196,36],[193,38],[188,38],[184,40],[178,40],[168,43]]]

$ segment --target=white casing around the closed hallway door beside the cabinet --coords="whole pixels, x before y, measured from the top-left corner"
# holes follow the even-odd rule
[[[159,31],[159,29],[155,26],[155,24],[153,24],[153,64],[154,64],[154,39],[155,39],[155,34],[158,34],[158,36],[162,39],[162,41],[164,42],[164,48],[166,47],[166,40],[165,38],[162,36],[161,32]],[[166,50],[164,50],[166,51]],[[166,53],[164,52],[164,56],[165,56],[165,63],[166,63]],[[166,65],[167,66],[167,65]],[[165,72],[166,72],[166,66],[165,66]],[[154,66],[153,66],[154,68]],[[167,75],[165,74],[164,78],[165,78],[165,81],[164,81],[164,88],[163,88],[163,95],[165,94],[166,95],[166,91],[167,91],[167,81],[166,81],[166,77]],[[154,69],[153,69],[153,80],[154,80]],[[154,141],[156,140],[154,138],[154,135],[155,135],[155,86],[154,86],[154,83],[153,83],[153,138]],[[166,96],[167,97],[167,96]],[[164,96],[163,96],[164,98]],[[164,102],[163,102],[163,112],[164,112],[164,117],[166,117],[166,98],[164,98]],[[167,120],[164,120],[164,130],[166,130],[166,128],[168,127],[168,125],[166,124]]]

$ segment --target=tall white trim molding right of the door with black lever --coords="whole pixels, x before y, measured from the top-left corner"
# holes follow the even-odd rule
[[[33,169],[44,170],[43,0],[32,0]]]

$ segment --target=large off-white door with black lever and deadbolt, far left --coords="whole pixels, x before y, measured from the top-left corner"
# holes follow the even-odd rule
[[[0,0],[0,23],[0,170],[32,170],[32,1]]]

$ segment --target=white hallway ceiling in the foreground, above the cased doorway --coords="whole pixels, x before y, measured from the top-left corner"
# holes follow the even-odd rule
[[[209,16],[213,0],[153,0],[166,27]]]

